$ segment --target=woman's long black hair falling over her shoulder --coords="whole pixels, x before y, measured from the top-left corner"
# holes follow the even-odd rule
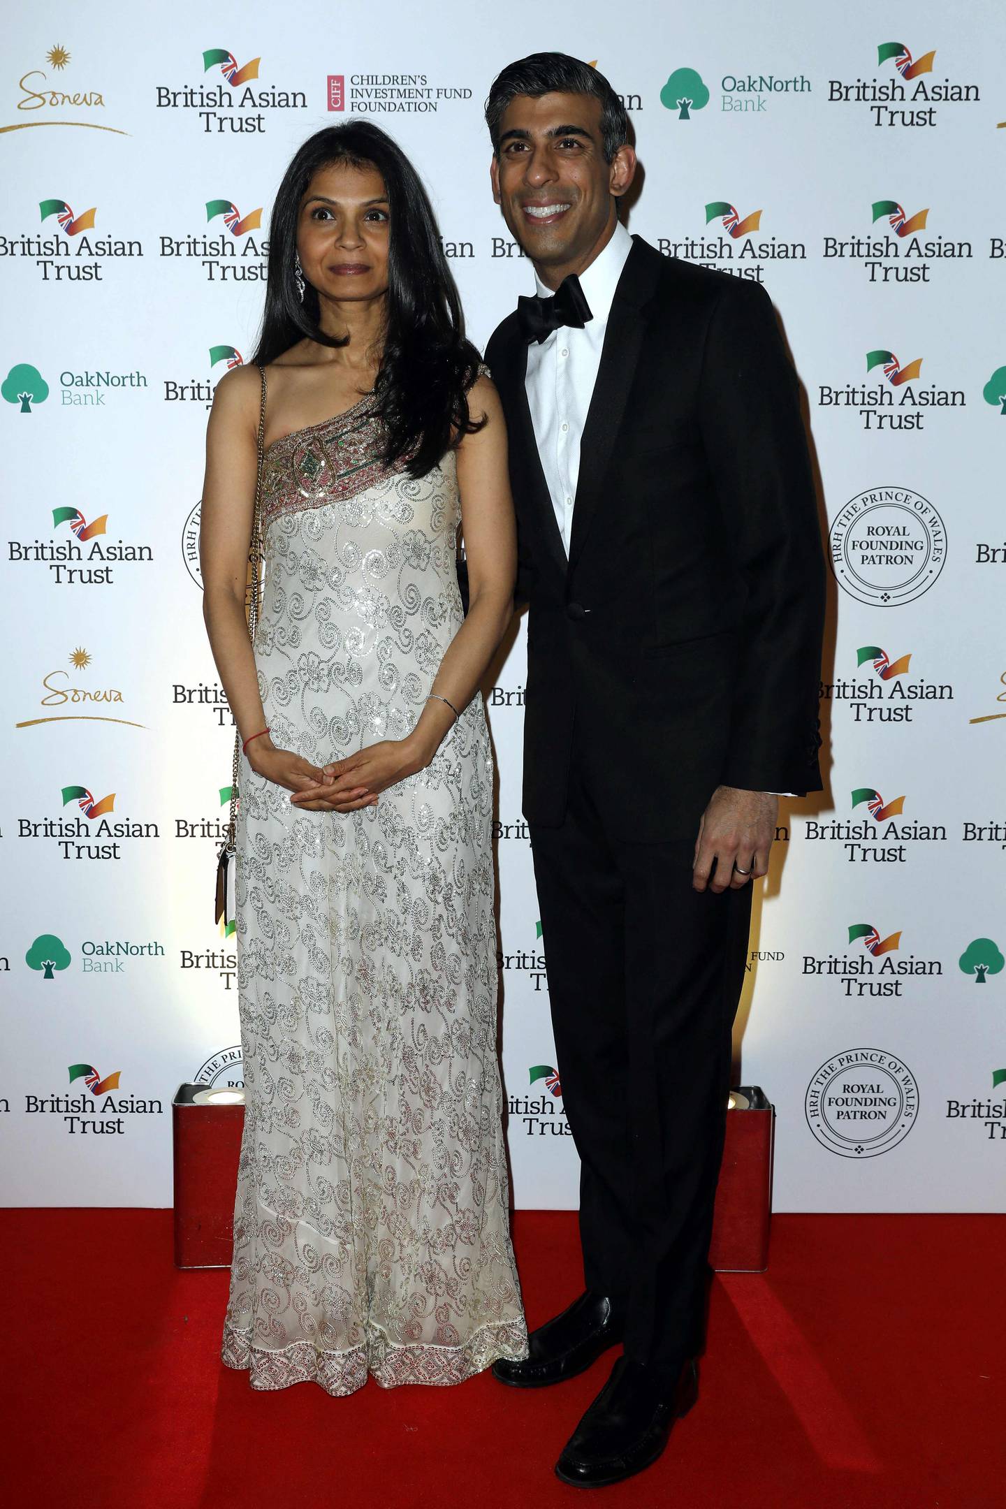
[[[385,180],[391,213],[388,327],[374,383],[388,444],[385,460],[404,457],[412,477],[436,466],[459,438],[481,429],[468,412],[478,352],[465,337],[465,315],[446,264],[436,216],[415,167],[392,139],[368,121],[345,121],[309,137],[279,186],[268,235],[265,311],[253,361],[265,365],[299,340],[345,346],[318,327],[318,294],[303,303],[294,281],[300,202],[315,172],[332,163],[373,166]]]

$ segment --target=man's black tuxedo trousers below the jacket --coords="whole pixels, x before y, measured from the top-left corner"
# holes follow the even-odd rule
[[[594,759],[575,745],[566,821],[531,827],[557,1067],[587,1286],[626,1304],[629,1357],[673,1366],[703,1343],[751,886],[695,892],[694,836],[635,842],[630,774]]]

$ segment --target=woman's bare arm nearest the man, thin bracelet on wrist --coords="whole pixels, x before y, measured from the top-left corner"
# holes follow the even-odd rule
[[[468,617],[446,647],[431,687],[459,714],[475,696],[513,617],[517,570],[507,424],[496,388],[487,377],[480,377],[474,385],[469,404],[474,416],[486,415],[486,424],[475,435],[466,435],[457,448],[457,483],[468,555]],[[326,774],[335,776],[335,785],[324,800],[317,800],[317,792],[311,791],[293,800],[297,806],[338,812],[373,806],[380,791],[430,764],[454,724],[454,714],[446,702],[427,702],[407,738],[383,739],[348,759],[326,765]],[[359,786],[367,788],[363,800],[351,797],[351,791]]]

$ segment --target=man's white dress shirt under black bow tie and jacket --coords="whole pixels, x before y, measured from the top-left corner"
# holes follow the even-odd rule
[[[528,347],[525,388],[531,423],[567,555],[579,477],[579,442],[597,382],[611,303],[630,250],[632,237],[618,222],[605,249],[579,275],[593,318],[582,330],[563,324],[541,344],[532,341]],[[540,297],[552,296],[554,290],[546,288],[540,278],[535,278],[535,284]]]

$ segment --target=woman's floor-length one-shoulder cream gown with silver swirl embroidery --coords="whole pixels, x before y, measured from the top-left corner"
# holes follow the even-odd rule
[[[255,661],[314,764],[415,726],[462,625],[454,453],[380,462],[368,400],[265,453]],[[353,813],[241,761],[244,1138],[223,1361],[255,1388],[455,1384],[526,1357],[496,1059],[481,696]]]

